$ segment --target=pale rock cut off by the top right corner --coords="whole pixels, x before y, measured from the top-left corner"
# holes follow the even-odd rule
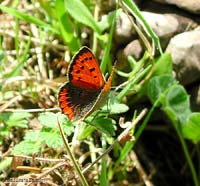
[[[155,0],[160,3],[176,5],[194,14],[200,14],[200,0]]]

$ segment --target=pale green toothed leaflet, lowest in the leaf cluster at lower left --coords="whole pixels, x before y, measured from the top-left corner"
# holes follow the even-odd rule
[[[14,146],[12,154],[31,155],[39,152],[40,149],[41,149],[40,141],[38,142],[21,141],[20,143]]]

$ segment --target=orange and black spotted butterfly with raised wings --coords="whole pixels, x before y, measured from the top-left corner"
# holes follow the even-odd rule
[[[67,72],[68,82],[59,90],[58,102],[68,119],[84,120],[106,102],[114,67],[105,82],[92,51],[83,46],[72,58]]]

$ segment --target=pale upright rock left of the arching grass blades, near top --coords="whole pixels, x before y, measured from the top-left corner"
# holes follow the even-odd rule
[[[130,16],[133,19],[132,16]],[[131,20],[125,13],[121,13],[116,21],[114,40],[118,45],[127,44],[136,36]]]

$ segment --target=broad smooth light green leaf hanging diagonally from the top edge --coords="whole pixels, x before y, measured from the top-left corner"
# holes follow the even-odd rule
[[[91,27],[96,33],[101,34],[102,30],[94,20],[93,15],[81,0],[65,0],[65,6],[69,14],[78,22]]]

